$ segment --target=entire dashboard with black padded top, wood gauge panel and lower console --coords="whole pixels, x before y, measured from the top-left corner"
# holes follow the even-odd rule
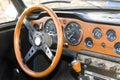
[[[51,36],[57,36],[53,20],[45,13],[43,14],[44,16],[38,20],[32,20],[32,25],[39,27],[42,23],[42,31]],[[89,77],[86,80],[119,79],[119,12],[56,11],[56,14],[63,29],[63,53],[78,53],[78,60],[84,64],[82,69],[84,76]],[[86,65],[87,68],[85,68]]]

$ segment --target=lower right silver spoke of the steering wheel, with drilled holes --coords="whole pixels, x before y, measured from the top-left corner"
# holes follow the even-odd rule
[[[44,43],[42,45],[42,50],[44,51],[44,53],[46,54],[46,56],[52,61],[54,58],[54,55],[52,54],[50,48],[48,47],[48,45],[46,43]]]

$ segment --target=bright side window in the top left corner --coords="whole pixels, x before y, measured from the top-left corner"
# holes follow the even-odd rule
[[[0,23],[15,20],[17,11],[10,0],[0,0]]]

